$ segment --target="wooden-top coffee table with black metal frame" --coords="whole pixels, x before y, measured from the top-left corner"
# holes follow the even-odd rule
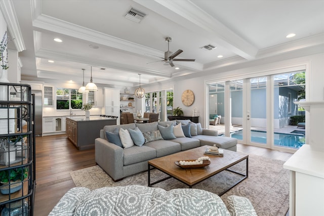
[[[167,179],[175,178],[176,180],[186,184],[189,188],[192,186],[208,179],[223,170],[228,170],[231,172],[235,172],[229,170],[228,168],[233,166],[234,164],[241,162],[243,160],[247,160],[247,167],[246,167],[246,174],[240,174],[239,172],[235,172],[242,176],[242,179],[237,181],[234,185],[230,186],[230,188],[226,189],[225,191],[218,194],[219,196],[226,193],[228,190],[233,188],[235,185],[240,183],[241,181],[248,178],[248,162],[249,162],[249,155],[242,154],[234,151],[229,151],[224,149],[224,156],[215,156],[215,155],[206,155],[204,154],[205,149],[209,148],[210,146],[200,146],[198,148],[190,149],[187,151],[178,152],[175,154],[167,155],[164,157],[155,158],[148,161],[148,186],[151,187],[159,182],[165,181]],[[179,160],[190,160],[190,159],[197,159],[199,157],[209,156],[211,160],[211,164],[201,168],[191,168],[191,169],[184,169],[175,164],[175,161]],[[154,167],[165,174],[169,175],[164,179],[158,180],[156,182],[150,181],[150,169]]]

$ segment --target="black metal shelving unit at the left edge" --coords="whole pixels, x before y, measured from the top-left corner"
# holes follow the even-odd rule
[[[34,99],[30,85],[0,83],[0,181],[13,172],[20,179],[0,183],[1,215],[33,215]]]

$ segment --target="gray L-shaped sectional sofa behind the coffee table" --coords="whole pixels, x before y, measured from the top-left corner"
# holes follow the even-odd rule
[[[158,130],[158,125],[168,126],[180,123],[190,124],[190,137],[177,137],[176,139],[160,139],[147,142],[142,146],[134,145],[123,148],[109,142],[106,132],[116,132],[119,128],[132,129],[136,127],[145,134]],[[151,123],[130,123],[121,125],[106,125],[100,131],[100,138],[95,140],[96,163],[104,169],[113,181],[122,180],[124,177],[137,174],[147,170],[147,161],[156,157],[163,157],[179,151],[196,148],[199,146],[216,144],[217,147],[236,151],[237,140],[229,137],[218,137],[217,131],[201,128],[200,123],[189,122],[189,120],[173,120]]]

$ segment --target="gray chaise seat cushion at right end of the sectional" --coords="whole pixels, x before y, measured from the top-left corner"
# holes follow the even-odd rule
[[[200,141],[200,146],[213,146],[216,144],[218,148],[229,149],[237,145],[237,139],[231,137],[198,135],[193,138]]]

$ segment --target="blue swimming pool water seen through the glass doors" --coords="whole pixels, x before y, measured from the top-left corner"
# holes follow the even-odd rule
[[[238,140],[243,139],[243,131],[231,133],[231,137]],[[255,143],[267,143],[266,132],[251,131],[251,141]],[[299,149],[305,144],[305,135],[274,133],[274,145]]]

